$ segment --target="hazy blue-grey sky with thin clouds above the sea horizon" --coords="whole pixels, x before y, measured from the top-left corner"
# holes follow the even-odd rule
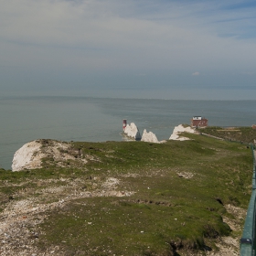
[[[255,100],[255,0],[0,3],[0,97]]]

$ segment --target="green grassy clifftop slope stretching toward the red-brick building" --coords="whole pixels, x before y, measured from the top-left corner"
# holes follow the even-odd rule
[[[66,255],[173,255],[176,249],[204,250],[219,236],[232,234],[223,205],[247,208],[251,196],[251,151],[205,136],[166,144],[142,142],[74,143],[92,155],[85,168],[53,167],[0,172],[1,201],[24,187],[37,189],[37,179],[80,178],[78,191],[101,189],[108,177],[120,180],[117,190],[131,197],[85,197],[48,212],[38,246],[59,245]],[[183,175],[193,175],[185,178]],[[20,183],[20,187],[5,187]],[[59,197],[52,200],[59,200]],[[50,198],[48,198],[50,200]],[[42,203],[46,203],[44,200]],[[221,204],[223,203],[223,205]],[[214,248],[213,248],[214,249]],[[180,252],[179,252],[180,253]]]

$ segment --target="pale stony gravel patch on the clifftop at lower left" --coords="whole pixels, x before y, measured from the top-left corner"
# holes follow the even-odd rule
[[[97,179],[96,179],[97,180]],[[69,201],[82,197],[129,197],[131,191],[115,190],[119,180],[109,177],[104,183],[97,184],[94,191],[82,191],[82,180],[65,180],[67,186],[51,187],[53,180],[48,180],[48,188],[38,189],[39,197],[29,196],[31,191],[19,191],[14,199],[5,203],[0,213],[0,255],[64,255],[57,247],[40,251],[37,242],[42,230],[38,224],[48,219],[48,211],[63,208]],[[45,181],[37,181],[45,182]],[[97,182],[97,181],[95,181]],[[96,183],[95,183],[96,184]],[[16,199],[21,197],[21,199]],[[55,200],[52,203],[42,203],[44,198]]]

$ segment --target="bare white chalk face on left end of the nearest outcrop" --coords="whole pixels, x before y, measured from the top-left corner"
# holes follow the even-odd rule
[[[23,169],[32,169],[41,167],[42,155],[37,155],[42,144],[37,141],[24,144],[16,151],[13,159],[13,172]]]

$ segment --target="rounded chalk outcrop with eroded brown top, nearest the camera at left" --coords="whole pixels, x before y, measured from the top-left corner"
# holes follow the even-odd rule
[[[54,165],[65,166],[68,160],[86,164],[86,155],[81,155],[72,144],[55,140],[36,140],[24,144],[13,158],[13,172],[42,167],[43,159],[52,159]]]

